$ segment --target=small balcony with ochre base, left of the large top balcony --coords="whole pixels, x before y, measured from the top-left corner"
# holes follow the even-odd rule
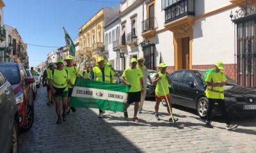
[[[152,38],[156,36],[157,22],[155,17],[147,18],[142,22],[142,33],[143,38]]]

